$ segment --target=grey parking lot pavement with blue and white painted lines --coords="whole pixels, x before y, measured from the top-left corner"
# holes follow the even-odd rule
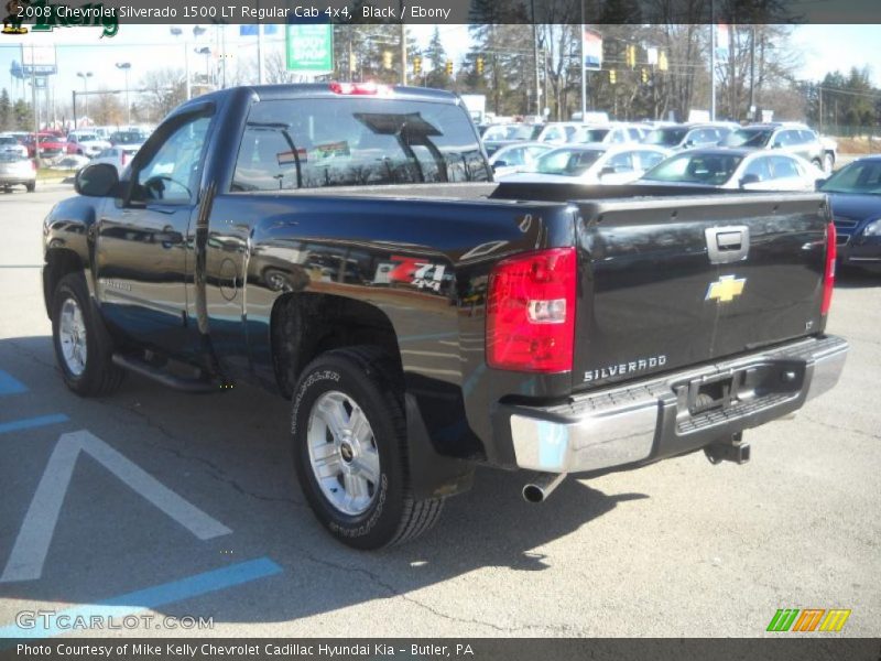
[[[51,609],[155,616],[96,636],[752,637],[777,608],[847,608],[842,635],[881,636],[878,278],[835,292],[839,387],[748,432],[749,464],[693,454],[541,506],[480,470],[431,533],[357,553],[303,503],[286,402],[131,376],[102,399],[64,388],[37,267],[65,192],[0,196],[0,636]]]

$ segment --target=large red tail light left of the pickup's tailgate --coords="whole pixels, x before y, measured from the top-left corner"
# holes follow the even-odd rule
[[[489,278],[487,364],[516,371],[570,371],[576,278],[575,248],[499,262]]]

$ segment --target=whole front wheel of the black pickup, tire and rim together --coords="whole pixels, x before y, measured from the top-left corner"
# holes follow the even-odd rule
[[[81,273],[61,279],[52,299],[52,340],[67,388],[81,397],[110,394],[124,371],[113,365],[112,340],[91,306]]]

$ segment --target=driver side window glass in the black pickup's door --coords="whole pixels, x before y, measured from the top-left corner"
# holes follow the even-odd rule
[[[178,127],[138,170],[134,197],[142,202],[195,202],[202,152],[210,117],[196,117]]]

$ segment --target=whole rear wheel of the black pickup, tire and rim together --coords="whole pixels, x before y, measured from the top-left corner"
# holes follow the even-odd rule
[[[378,348],[336,349],[303,370],[292,398],[294,468],[303,495],[322,525],[354,549],[415,539],[437,522],[444,505],[443,498],[412,496],[403,398],[393,369]]]

